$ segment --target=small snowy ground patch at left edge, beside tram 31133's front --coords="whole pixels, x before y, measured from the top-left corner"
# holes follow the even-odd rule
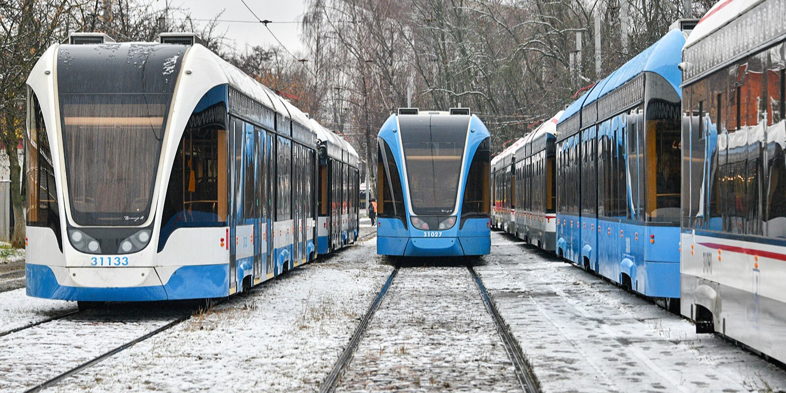
[[[72,310],[76,310],[75,302],[28,297],[24,293],[24,288],[0,292],[0,332],[17,329]]]

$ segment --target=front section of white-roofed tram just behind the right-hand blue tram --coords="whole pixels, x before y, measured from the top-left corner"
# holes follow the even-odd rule
[[[515,234],[527,243],[553,251],[556,244],[556,112],[527,134],[513,163]]]

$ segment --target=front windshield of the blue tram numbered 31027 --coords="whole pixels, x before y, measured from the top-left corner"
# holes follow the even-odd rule
[[[454,214],[468,124],[469,116],[399,116],[416,215]]]

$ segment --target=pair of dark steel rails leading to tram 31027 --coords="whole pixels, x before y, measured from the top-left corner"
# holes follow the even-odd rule
[[[402,266],[403,265],[403,266]],[[425,263],[426,266],[441,266],[446,267],[450,266],[450,264],[444,263]],[[385,281],[384,285],[380,289],[380,292],[377,294],[376,298],[373,300],[371,305],[369,306],[368,310],[366,310],[365,315],[363,316],[362,320],[358,323],[358,327],[355,329],[354,334],[351,336],[351,340],[347,343],[347,347],[344,348],[343,352],[340,354],[336,364],[333,366],[332,370],[325,378],[324,382],[320,386],[320,393],[331,393],[336,391],[336,387],[340,383],[340,380],[343,374],[347,371],[351,359],[353,358],[354,353],[358,350],[358,346],[363,340],[365,333],[369,329],[370,321],[374,318],[374,314],[376,314],[376,310],[380,307],[380,303],[384,299],[385,295],[388,292],[388,289],[391,288],[393,285],[393,281],[395,277],[399,274],[399,270],[406,269],[407,267],[417,267],[423,266],[423,264],[418,263],[406,263],[403,264],[399,261],[395,269],[391,272],[390,276],[387,277],[387,281]],[[453,265],[454,266],[454,265]],[[476,274],[472,264],[467,264],[467,269],[471,276],[474,285],[479,291],[480,297],[483,299],[483,305],[486,308],[488,314],[494,321],[494,326],[497,329],[498,335],[501,338],[501,342],[505,347],[505,352],[512,362],[513,369],[515,369],[516,373],[516,380],[520,385],[522,391],[526,393],[539,393],[540,387],[538,385],[538,380],[532,373],[531,366],[527,362],[527,358],[523,355],[521,348],[519,347],[516,340],[513,338],[512,333],[510,332],[508,325],[505,324],[505,321],[501,318],[499,311],[497,310],[496,306],[492,302],[489,293],[486,290],[486,287],[483,285],[483,281],[480,277]],[[513,384],[515,386],[515,384]]]

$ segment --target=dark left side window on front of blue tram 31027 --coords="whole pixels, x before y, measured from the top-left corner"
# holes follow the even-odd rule
[[[376,195],[380,196],[380,200],[376,201],[377,216],[400,219],[406,228],[404,193],[399,178],[399,167],[387,143],[382,139],[379,140],[377,149],[376,178],[378,179]]]

